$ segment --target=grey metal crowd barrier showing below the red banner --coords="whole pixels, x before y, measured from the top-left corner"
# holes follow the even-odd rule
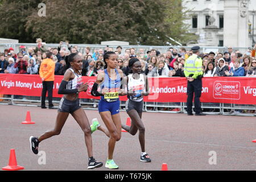
[[[59,97],[53,97],[53,105],[57,109]],[[0,96],[0,105],[19,105],[19,106],[35,106],[40,107],[40,97],[35,96],[15,96],[3,95]],[[46,103],[48,98],[46,97]],[[98,100],[80,98],[80,104],[83,109],[97,110]],[[46,104],[47,105],[47,104]],[[209,103],[202,102],[201,108],[206,114],[221,114],[221,115],[239,115],[239,116],[256,116],[256,105],[247,104],[224,104],[224,103]],[[125,111],[125,101],[120,101],[121,111]],[[185,102],[144,102],[143,111],[155,113],[187,113]]]

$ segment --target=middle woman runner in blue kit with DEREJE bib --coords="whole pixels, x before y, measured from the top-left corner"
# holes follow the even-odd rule
[[[123,72],[117,69],[118,56],[108,51],[104,54],[105,70],[97,76],[92,88],[92,96],[101,96],[98,104],[98,111],[107,131],[98,127],[99,130],[109,137],[108,160],[105,164],[106,168],[117,169],[118,166],[113,160],[115,142],[121,139],[121,118],[119,114],[119,96],[124,96],[126,91],[121,89],[121,79]],[[98,90],[98,88],[100,88]]]

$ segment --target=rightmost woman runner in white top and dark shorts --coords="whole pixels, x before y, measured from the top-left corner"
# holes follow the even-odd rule
[[[131,126],[122,125],[122,128],[131,135],[135,135],[139,130],[139,143],[141,144],[141,161],[151,162],[150,157],[145,151],[145,127],[141,120],[143,109],[143,96],[148,96],[148,80],[141,74],[141,61],[137,58],[129,60],[129,67],[133,74],[123,78],[125,87],[127,87],[126,112],[131,118]]]

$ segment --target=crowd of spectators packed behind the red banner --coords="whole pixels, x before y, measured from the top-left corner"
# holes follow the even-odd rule
[[[201,53],[203,59],[204,77],[213,76],[250,76],[256,77],[256,44],[246,53],[234,51],[228,47],[228,51]],[[116,48],[105,47],[91,52],[86,47],[80,52],[77,46],[69,46],[68,42],[60,42],[59,47],[46,48],[42,39],[36,40],[35,47],[19,47],[19,52],[13,48],[5,49],[0,53],[0,73],[39,74],[40,64],[46,59],[47,51],[53,53],[55,61],[55,75],[64,75],[65,56],[77,53],[82,57],[82,76],[97,76],[104,70],[103,56],[106,51],[114,51],[118,55],[118,68],[125,75],[129,75],[129,60],[137,57],[141,61],[142,73],[149,77],[185,77],[183,69],[185,60],[192,55],[191,50],[185,48],[170,47],[166,52],[156,49],[127,48],[124,51],[121,46]]]

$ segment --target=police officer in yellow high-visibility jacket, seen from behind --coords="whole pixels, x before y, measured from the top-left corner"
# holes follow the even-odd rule
[[[193,97],[195,93],[195,112],[196,115],[205,115],[201,113],[201,103],[200,97],[202,92],[202,80],[203,77],[203,61],[199,57],[200,47],[195,46],[191,48],[193,54],[188,57],[184,65],[185,77],[188,80],[187,85],[187,113],[188,115],[193,115],[192,106],[193,106]]]

